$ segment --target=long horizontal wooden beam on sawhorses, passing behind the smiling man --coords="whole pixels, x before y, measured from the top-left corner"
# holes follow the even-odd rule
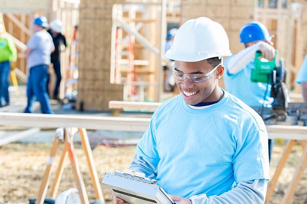
[[[145,131],[150,118],[0,112],[0,125]],[[307,126],[267,125],[270,138],[307,140]]]

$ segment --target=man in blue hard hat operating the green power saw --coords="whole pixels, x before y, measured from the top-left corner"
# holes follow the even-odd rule
[[[254,68],[255,52],[260,50],[263,57],[272,60],[275,48],[267,28],[258,21],[243,25],[240,29],[240,42],[245,49],[225,60],[225,89],[251,107],[271,107],[274,98],[271,85],[250,80],[251,69]],[[262,115],[261,115],[262,116]],[[274,140],[268,140],[269,159],[271,158]]]

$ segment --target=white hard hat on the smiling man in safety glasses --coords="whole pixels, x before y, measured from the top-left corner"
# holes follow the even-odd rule
[[[185,22],[177,31],[173,46],[165,53],[169,59],[200,61],[232,55],[223,26],[208,17]]]

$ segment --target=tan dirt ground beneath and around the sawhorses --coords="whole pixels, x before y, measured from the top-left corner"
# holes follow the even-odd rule
[[[0,203],[29,203],[28,198],[35,198],[37,196],[51,145],[52,143],[11,143],[0,147]],[[275,142],[270,168],[271,176],[274,173],[284,147],[285,144],[283,141]],[[55,166],[59,161],[61,149],[62,146],[58,150],[58,156],[52,171],[53,176],[56,170]],[[94,200],[94,190],[91,185],[86,157],[83,154],[80,144],[76,144],[75,149],[89,199],[90,201]],[[115,170],[123,170],[126,168],[134,154],[134,149],[134,145],[95,147],[92,152],[99,180],[102,180],[105,172],[113,173]],[[280,203],[284,190],[291,181],[295,171],[295,165],[299,162],[301,154],[302,147],[298,144],[295,145],[277,182],[275,193],[270,203]],[[66,158],[59,192],[76,187],[69,162],[69,159]],[[103,185],[101,187],[106,203],[112,203],[110,192]],[[49,192],[50,189],[48,190],[47,196]],[[295,191],[292,203],[307,203],[307,169],[305,169],[304,175]]]

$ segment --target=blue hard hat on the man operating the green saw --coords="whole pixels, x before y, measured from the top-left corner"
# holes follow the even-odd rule
[[[275,35],[269,34],[264,24],[259,21],[251,21],[240,29],[240,42],[251,42],[256,40],[271,40]]]

